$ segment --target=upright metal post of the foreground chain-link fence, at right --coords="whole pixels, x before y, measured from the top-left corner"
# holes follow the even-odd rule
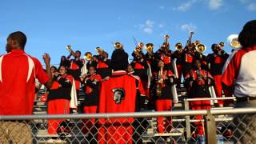
[[[207,115],[204,116],[205,122],[205,133],[206,133],[206,143],[208,144],[216,144],[216,126],[215,126],[215,118],[212,114],[210,114],[210,110],[207,110]]]

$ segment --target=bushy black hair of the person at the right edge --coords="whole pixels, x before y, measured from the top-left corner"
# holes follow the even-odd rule
[[[256,45],[256,20],[247,22],[238,36],[238,42],[244,47]]]

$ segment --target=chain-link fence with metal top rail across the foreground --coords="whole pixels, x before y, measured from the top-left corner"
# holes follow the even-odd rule
[[[207,115],[208,112],[208,115]],[[205,116],[204,119],[198,118]],[[214,116],[213,116],[214,115]],[[1,116],[1,143],[250,143],[255,108]],[[189,123],[186,118],[189,117]],[[195,117],[195,118],[194,118]],[[210,119],[210,117],[214,117]],[[190,133],[190,134],[187,134]]]

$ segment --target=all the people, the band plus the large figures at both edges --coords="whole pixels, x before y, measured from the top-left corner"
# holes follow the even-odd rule
[[[44,54],[46,70],[37,58],[26,54],[26,34],[11,33],[6,38],[6,54],[0,55],[0,115],[33,114],[36,90],[42,83],[47,89],[40,97],[47,102],[48,114],[133,113],[142,110],[170,111],[179,101],[177,90],[186,88],[190,109],[210,109],[212,101],[198,98],[236,98],[235,108],[256,106],[256,20],[246,22],[242,31],[231,34],[230,46],[237,50],[227,54],[224,42],[211,46],[212,53],[204,55],[206,46],[192,42],[192,34],[183,47],[170,47],[169,36],[158,50],[154,44],[136,44],[129,60],[126,47],[114,43],[109,55],[97,47],[98,55],[66,46],[70,55],[62,56],[59,67],[50,67],[50,55]],[[146,49],[146,54],[143,50]],[[144,50],[145,51],[145,50]],[[38,83],[36,83],[38,80]],[[183,82],[181,82],[183,81]],[[81,90],[82,88],[82,91]],[[85,98],[79,98],[84,93]],[[37,93],[36,93],[37,94]],[[81,102],[78,105],[78,99]],[[180,99],[181,100],[181,99]],[[218,101],[215,106],[230,106],[233,102]],[[236,109],[238,110],[238,109]],[[6,117],[5,117],[6,118]],[[13,118],[13,117],[10,117]],[[18,118],[18,117],[15,117]],[[202,116],[193,124],[192,136],[204,133]],[[142,133],[148,123],[144,118],[91,118],[82,120],[85,139],[90,143],[142,143]],[[255,143],[255,114],[237,114],[234,117],[235,141]],[[171,117],[157,118],[158,133],[172,130]],[[64,119],[48,119],[48,133],[70,132]],[[227,136],[232,130],[224,133]],[[223,134],[223,135],[224,135]],[[239,138],[239,139],[237,139]],[[0,142],[32,143],[30,126],[25,121],[1,121]]]

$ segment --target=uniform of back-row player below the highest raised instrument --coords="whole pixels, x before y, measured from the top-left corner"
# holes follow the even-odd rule
[[[187,47],[184,48],[182,51],[182,74],[183,77],[186,77],[186,74],[189,73],[190,70],[193,69],[193,62],[194,62],[194,53],[196,52],[195,49],[189,50]]]

